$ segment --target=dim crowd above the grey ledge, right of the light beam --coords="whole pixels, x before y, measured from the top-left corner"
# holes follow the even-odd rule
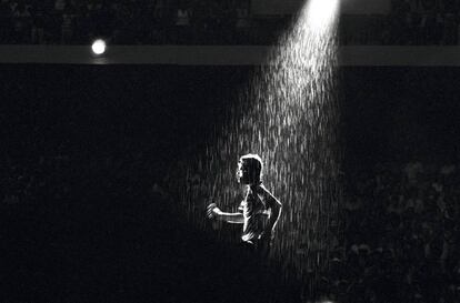
[[[460,43],[460,1],[391,1],[389,16],[344,17],[344,44],[451,46]]]

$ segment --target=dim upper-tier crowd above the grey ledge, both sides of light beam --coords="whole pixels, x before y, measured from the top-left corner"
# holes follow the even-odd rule
[[[250,0],[1,0],[0,43],[270,44],[289,16]],[[389,14],[343,14],[342,44],[458,44],[458,0],[392,1]]]

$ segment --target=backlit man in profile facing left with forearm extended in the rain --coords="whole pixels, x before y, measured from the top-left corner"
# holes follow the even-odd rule
[[[281,214],[281,203],[262,184],[262,160],[257,154],[247,154],[238,162],[238,183],[247,185],[239,212],[222,212],[216,203],[208,206],[208,216],[228,223],[243,224],[241,240],[251,251],[267,257],[273,230]]]

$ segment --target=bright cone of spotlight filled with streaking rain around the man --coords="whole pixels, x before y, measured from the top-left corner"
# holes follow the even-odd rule
[[[189,159],[187,174],[199,172],[204,180],[182,200],[197,224],[206,220],[207,202],[199,196],[213,196],[222,209],[234,211],[243,198],[234,181],[236,163],[242,154],[258,153],[267,188],[283,203],[272,257],[293,264],[300,276],[327,265],[341,196],[338,16],[337,0],[310,0],[302,8],[229,109],[206,154]]]

